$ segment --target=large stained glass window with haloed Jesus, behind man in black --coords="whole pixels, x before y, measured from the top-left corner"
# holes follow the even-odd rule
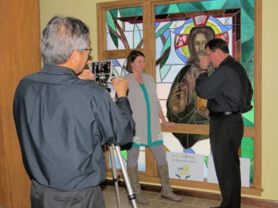
[[[205,43],[214,37],[225,40],[230,54],[245,67],[254,88],[253,0],[173,3],[156,6],[155,10],[156,86],[166,119],[177,123],[208,124],[206,101],[194,91],[199,58],[206,55],[202,40]],[[199,40],[199,43],[193,40]],[[213,70],[211,66],[211,73]],[[254,127],[254,108],[243,114],[243,121],[245,127]],[[167,134],[164,140],[180,141],[165,142],[169,150],[211,154],[208,135]],[[254,178],[253,148],[252,139],[243,138],[241,157],[251,159],[250,182]],[[206,171],[204,174],[206,177]]]

